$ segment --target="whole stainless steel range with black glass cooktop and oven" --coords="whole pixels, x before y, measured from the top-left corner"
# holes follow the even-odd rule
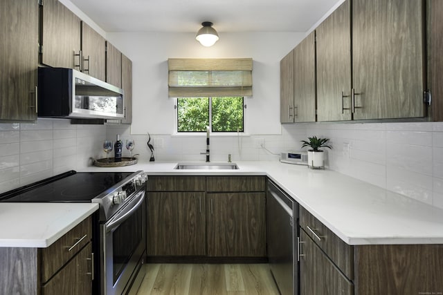
[[[145,257],[146,181],[143,171],[69,171],[2,193],[0,201],[98,203],[93,247],[100,253],[100,281],[93,282],[93,294],[126,294]]]

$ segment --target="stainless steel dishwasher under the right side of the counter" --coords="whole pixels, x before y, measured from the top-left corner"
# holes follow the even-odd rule
[[[280,294],[298,294],[298,203],[267,181],[266,234],[269,265]]]

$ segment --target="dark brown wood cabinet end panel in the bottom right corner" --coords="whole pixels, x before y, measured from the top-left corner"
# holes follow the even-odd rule
[[[359,295],[443,294],[443,245],[355,246],[354,268]]]

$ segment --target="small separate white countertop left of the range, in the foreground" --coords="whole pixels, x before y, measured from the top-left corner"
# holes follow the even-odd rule
[[[0,202],[0,247],[49,247],[96,210],[93,203]]]

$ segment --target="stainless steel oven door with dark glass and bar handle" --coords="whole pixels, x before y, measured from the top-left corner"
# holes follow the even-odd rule
[[[100,225],[102,295],[120,295],[131,287],[145,256],[145,224],[143,189],[110,220]]]

